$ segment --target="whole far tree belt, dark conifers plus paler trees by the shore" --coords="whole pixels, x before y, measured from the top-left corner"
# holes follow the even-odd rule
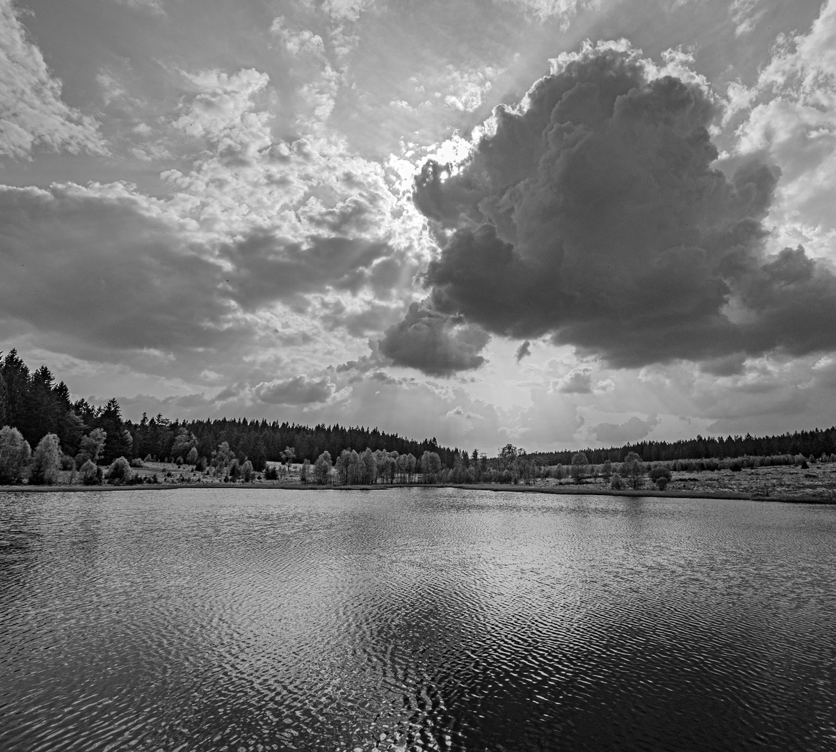
[[[418,442],[397,433],[381,432],[376,427],[339,424],[308,427],[295,422],[250,421],[246,417],[171,421],[158,413],[154,417],[143,414],[139,422],[132,422],[122,417],[115,398],[99,407],[84,399],[73,402],[64,381],[56,382],[47,366],[30,371],[17,350],[0,358],[0,427],[4,426],[19,432],[21,440],[28,444],[25,463],[33,460],[31,448],[37,454],[38,445],[50,436],[54,437],[50,446],[54,444],[61,463],[66,466],[72,460],[80,471],[89,462],[93,469],[88,467],[88,474],[96,472],[97,466],[112,465],[119,458],[125,458],[127,463],[140,462],[142,458],[180,460],[205,472],[207,468],[217,468],[218,461],[213,458],[223,448],[221,464],[225,469],[232,465],[232,459],[237,462],[233,467],[244,468],[249,463],[255,473],[266,472],[268,462],[303,466],[307,463],[312,482],[326,474],[328,482],[334,478],[344,483],[374,482],[369,481],[372,476],[375,480],[395,482],[397,478],[400,482],[412,482],[421,473],[422,480],[432,478],[451,483],[530,483],[533,478],[547,474],[562,477],[562,466],[571,468],[573,458],[578,455],[577,450],[526,453],[507,444],[499,449],[496,457],[488,458],[476,450],[467,453],[458,448],[440,447],[435,437]],[[18,446],[11,433],[4,436]],[[0,447],[0,453],[3,451]],[[622,447],[583,452],[586,462],[593,466],[624,463],[629,455],[635,454],[644,463],[696,460],[706,468],[715,464],[719,467],[718,463],[736,458],[749,466],[747,463],[753,464],[753,458],[776,464],[784,463],[778,459],[781,457],[818,458],[833,453],[836,453],[836,427],[766,437],[752,437],[748,433],[745,437],[697,436],[676,442],[627,443]],[[23,454],[21,445],[20,457],[15,462],[24,463]],[[5,456],[10,455],[7,452]],[[326,457],[328,473],[324,467]],[[374,473],[370,471],[372,463]],[[678,469],[674,465],[670,467]]]

